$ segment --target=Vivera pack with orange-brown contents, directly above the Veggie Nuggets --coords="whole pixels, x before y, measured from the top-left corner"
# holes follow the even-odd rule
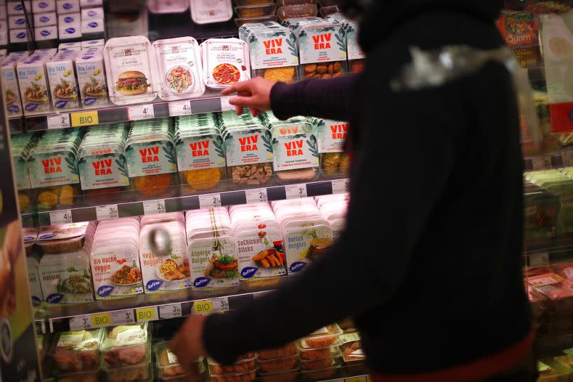
[[[168,120],[135,122],[126,142],[131,188],[138,196],[169,196],[177,179],[177,160]]]

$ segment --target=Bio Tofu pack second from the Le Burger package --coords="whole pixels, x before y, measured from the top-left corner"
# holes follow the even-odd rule
[[[58,53],[52,60],[46,62],[46,69],[52,105],[56,110],[77,108],[79,97],[74,72],[74,55]]]

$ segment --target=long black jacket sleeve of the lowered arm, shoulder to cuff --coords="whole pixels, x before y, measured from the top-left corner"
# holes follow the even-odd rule
[[[400,104],[404,108],[424,99]],[[228,364],[245,352],[281,346],[328,323],[367,313],[408,282],[413,249],[455,164],[452,138],[423,123],[447,123],[447,114],[436,114],[432,107],[422,104],[408,121],[410,129],[379,128],[377,109],[364,108],[363,143],[352,163],[345,232],[330,252],[289,276],[276,291],[228,315],[209,317],[203,338],[210,356]],[[389,113],[384,122],[400,126],[401,118],[401,113]],[[399,142],[407,142],[406,153],[406,143]],[[378,167],[396,158],[400,166]],[[382,178],[391,184],[382,186]]]

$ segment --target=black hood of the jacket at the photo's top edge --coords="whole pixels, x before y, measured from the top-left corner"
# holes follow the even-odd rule
[[[392,30],[408,19],[434,10],[467,13],[492,23],[499,17],[503,0],[346,0],[347,13],[360,23],[359,42],[368,53]]]

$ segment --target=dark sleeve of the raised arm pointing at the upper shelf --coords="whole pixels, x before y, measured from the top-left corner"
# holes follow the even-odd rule
[[[277,82],[271,89],[271,109],[277,118],[313,116],[350,120],[350,97],[359,74],[335,79],[306,79],[294,84]]]

